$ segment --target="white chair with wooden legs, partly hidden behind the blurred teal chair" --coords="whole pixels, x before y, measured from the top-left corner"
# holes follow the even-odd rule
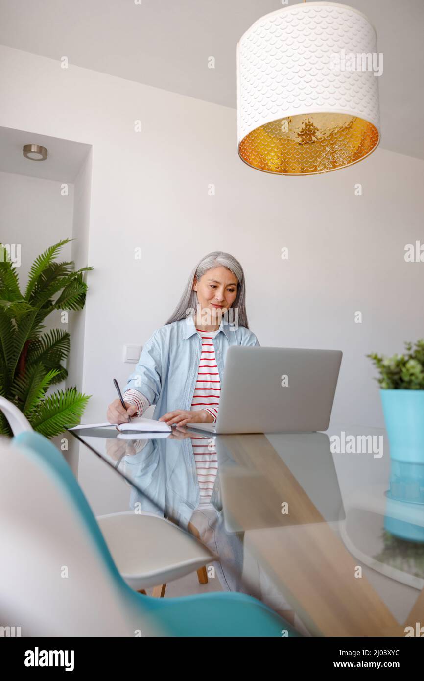
[[[14,436],[33,428],[25,415],[9,400],[0,397],[0,409]],[[54,446],[54,445],[53,445]],[[63,457],[59,449],[57,456]],[[35,452],[42,456],[42,452]],[[205,565],[216,559],[206,546],[191,541],[177,525],[152,513],[108,513],[97,522],[123,579],[131,588],[163,597],[167,582],[197,571],[200,584],[208,579]]]

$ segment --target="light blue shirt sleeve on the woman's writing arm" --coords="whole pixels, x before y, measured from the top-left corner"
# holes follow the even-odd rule
[[[161,347],[157,334],[153,334],[144,345],[135,370],[125,385],[127,390],[137,390],[144,395],[149,405],[156,405],[162,389]]]

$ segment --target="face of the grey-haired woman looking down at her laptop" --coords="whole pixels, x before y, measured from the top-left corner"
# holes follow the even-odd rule
[[[230,270],[220,265],[208,270],[199,281],[195,276],[193,291],[202,311],[206,308],[221,321],[221,315],[233,304],[237,296],[237,278]]]

